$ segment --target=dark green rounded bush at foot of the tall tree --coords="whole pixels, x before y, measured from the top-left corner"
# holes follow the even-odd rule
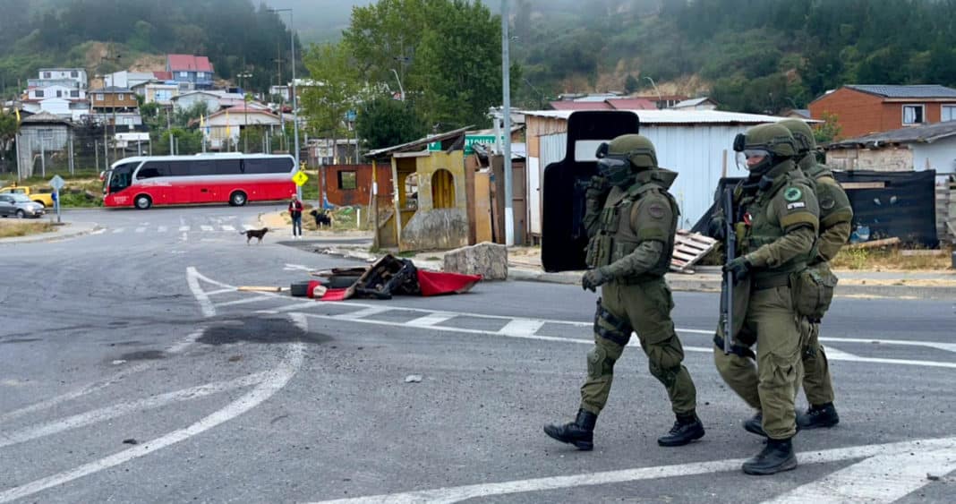
[[[428,124],[407,101],[378,97],[359,107],[356,118],[359,138],[368,149],[378,149],[418,140],[428,133]]]

